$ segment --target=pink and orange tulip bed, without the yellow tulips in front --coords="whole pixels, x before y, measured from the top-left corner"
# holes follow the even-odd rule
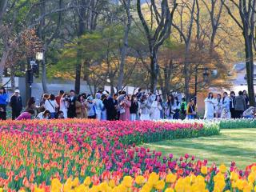
[[[193,168],[197,165],[194,157],[162,157],[160,152],[136,145],[212,134],[219,134],[218,126],[198,122],[1,122],[0,187],[28,190],[34,183],[50,185],[52,178],[65,182],[71,175],[80,181],[92,176],[98,183],[110,172],[119,179],[128,174],[178,169],[184,175],[191,170],[198,173],[199,168]]]

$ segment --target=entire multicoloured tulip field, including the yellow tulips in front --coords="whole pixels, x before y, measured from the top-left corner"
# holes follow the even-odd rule
[[[218,134],[219,122],[0,122],[0,192],[254,191],[253,162],[239,170],[142,146]]]

